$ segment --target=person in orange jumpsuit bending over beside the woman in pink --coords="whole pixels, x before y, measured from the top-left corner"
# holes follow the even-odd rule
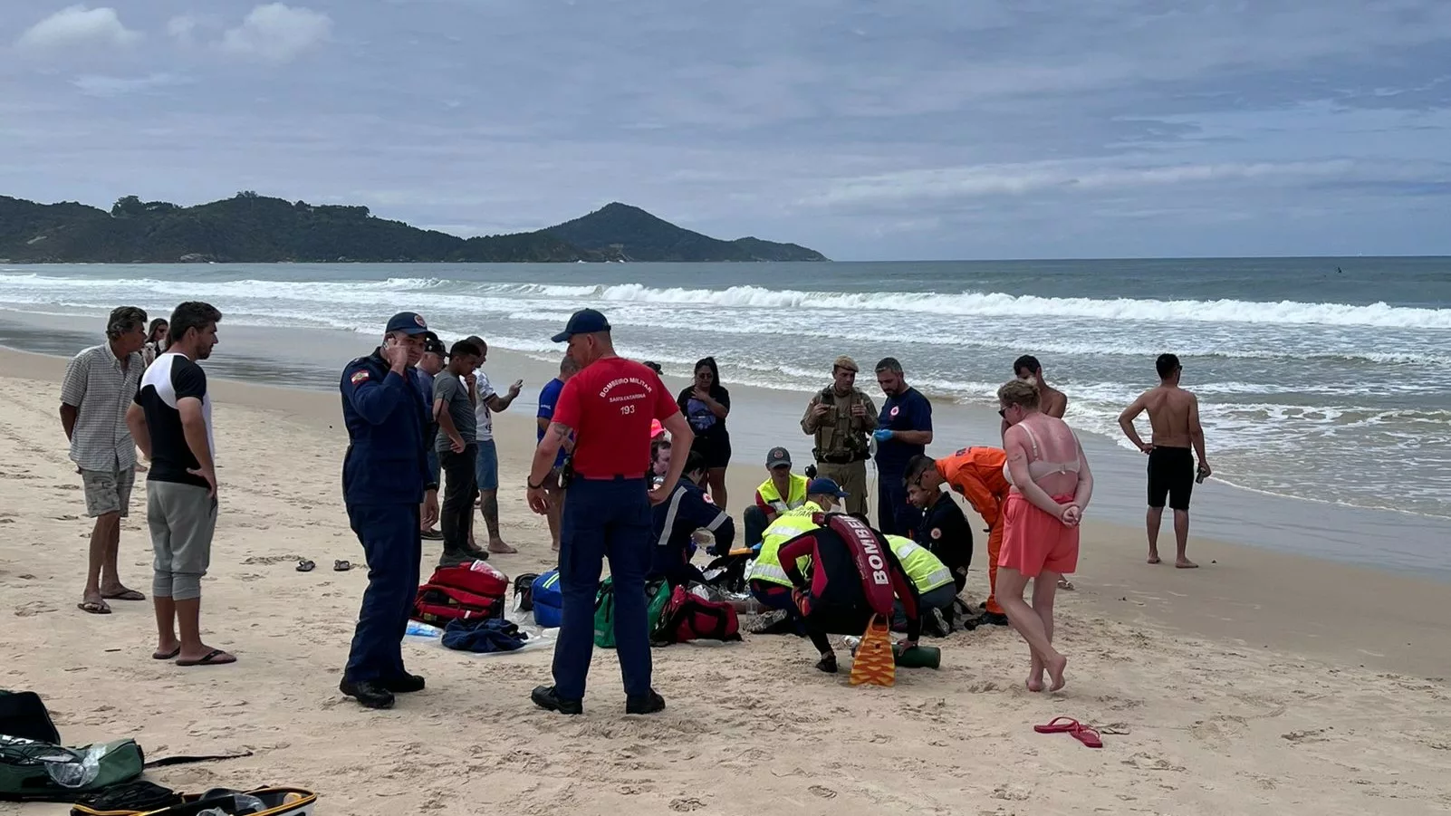
[[[932,507],[940,501],[946,482],[972,505],[988,526],[988,600],[982,623],[1007,626],[1007,616],[997,603],[997,562],[1003,549],[1003,502],[1011,485],[1003,475],[1007,453],[1001,447],[963,447],[952,456],[932,459],[914,456],[907,463],[907,492],[914,502]],[[946,497],[942,497],[946,498]],[[950,499],[949,499],[950,501]]]

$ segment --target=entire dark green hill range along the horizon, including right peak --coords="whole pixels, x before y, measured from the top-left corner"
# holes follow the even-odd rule
[[[376,218],[366,206],[309,205],[242,192],[196,206],[126,196],[110,212],[74,202],[41,205],[0,196],[0,260],[503,263],[826,258],[794,244],[756,238],[718,241],[625,205],[609,205],[548,229],[466,240]]]

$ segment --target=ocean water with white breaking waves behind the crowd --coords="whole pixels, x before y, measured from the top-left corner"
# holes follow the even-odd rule
[[[161,315],[183,299],[234,325],[369,335],[416,309],[445,338],[547,359],[595,306],[624,353],[669,373],[714,356],[727,386],[804,393],[837,354],[868,370],[892,356],[937,405],[978,411],[1030,353],[1068,421],[1122,447],[1119,411],[1172,351],[1217,479],[1451,517],[1451,258],[0,266],[0,308]]]

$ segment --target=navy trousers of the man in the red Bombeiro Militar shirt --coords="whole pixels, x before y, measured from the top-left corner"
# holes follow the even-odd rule
[[[650,497],[644,479],[575,478],[564,494],[559,531],[563,620],[554,643],[554,691],[585,698],[595,653],[595,595],[604,560],[615,589],[615,650],[625,694],[650,693],[650,620],[644,576],[650,571]]]

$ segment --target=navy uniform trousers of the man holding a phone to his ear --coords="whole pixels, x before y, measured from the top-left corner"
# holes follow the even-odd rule
[[[350,682],[398,680],[403,633],[418,597],[424,542],[416,504],[350,504],[348,523],[367,556],[367,589],[342,678]]]

